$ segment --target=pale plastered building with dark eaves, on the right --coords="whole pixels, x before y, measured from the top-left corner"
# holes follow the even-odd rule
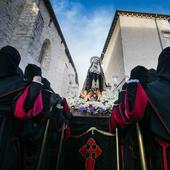
[[[137,65],[156,68],[170,46],[170,15],[116,11],[101,55],[106,81],[123,83]]]

